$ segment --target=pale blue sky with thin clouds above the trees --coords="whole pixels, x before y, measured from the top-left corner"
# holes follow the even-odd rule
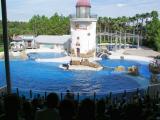
[[[33,15],[52,16],[55,12],[68,16],[75,14],[76,0],[6,0],[10,21],[28,21]],[[91,0],[91,13],[98,16],[134,16],[156,10],[160,0]],[[1,19],[1,13],[0,13]]]

